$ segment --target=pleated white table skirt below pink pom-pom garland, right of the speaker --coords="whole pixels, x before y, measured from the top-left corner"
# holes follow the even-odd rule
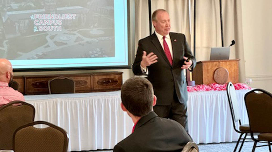
[[[250,90],[236,90],[242,124],[248,124],[244,96]],[[236,123],[239,128],[239,123]],[[237,141],[233,129],[226,91],[191,92],[188,94],[188,128],[196,143]]]

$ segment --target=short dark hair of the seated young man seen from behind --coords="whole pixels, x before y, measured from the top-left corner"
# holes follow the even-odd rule
[[[132,77],[122,85],[122,103],[134,116],[143,117],[152,111],[153,87],[143,77]]]

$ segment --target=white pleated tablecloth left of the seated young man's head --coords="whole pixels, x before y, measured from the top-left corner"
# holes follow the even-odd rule
[[[120,91],[27,95],[36,109],[35,121],[48,121],[69,135],[68,151],[112,149],[133,127],[120,108]]]

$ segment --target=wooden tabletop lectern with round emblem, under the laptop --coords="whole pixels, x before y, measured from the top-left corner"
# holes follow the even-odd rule
[[[239,83],[239,61],[240,59],[199,61],[193,70],[193,80],[196,85]]]

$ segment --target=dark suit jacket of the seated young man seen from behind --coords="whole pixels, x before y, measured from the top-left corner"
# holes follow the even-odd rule
[[[113,152],[180,152],[188,141],[191,137],[181,124],[150,112],[137,122],[131,135],[115,145]]]

